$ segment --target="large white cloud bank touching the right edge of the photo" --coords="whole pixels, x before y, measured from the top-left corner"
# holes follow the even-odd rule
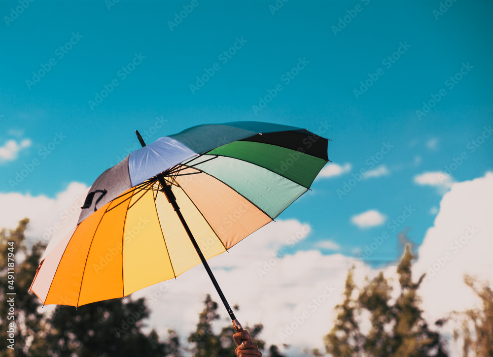
[[[434,226],[426,232],[415,265],[419,274],[428,274],[421,292],[426,310],[433,318],[453,309],[471,307],[476,301],[463,283],[464,274],[493,283],[492,202],[492,172],[472,181],[455,183],[443,196]]]

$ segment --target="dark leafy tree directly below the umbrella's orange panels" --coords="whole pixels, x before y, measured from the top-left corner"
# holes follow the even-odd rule
[[[48,320],[53,356],[155,356],[167,351],[156,331],[141,331],[149,310],[144,299],[112,299],[75,309],[62,306]]]

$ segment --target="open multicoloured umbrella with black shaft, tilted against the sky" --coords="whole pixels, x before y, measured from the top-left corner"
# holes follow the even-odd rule
[[[274,220],[328,162],[327,139],[260,122],[207,124],[164,136],[103,172],[55,234],[31,286],[43,304],[124,297],[207,263]],[[76,202],[77,204],[77,202]],[[80,205],[80,203],[78,203]],[[75,221],[76,220],[76,221]]]

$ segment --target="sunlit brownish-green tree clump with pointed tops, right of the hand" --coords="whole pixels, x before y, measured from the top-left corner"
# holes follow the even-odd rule
[[[346,279],[344,302],[337,305],[338,316],[333,329],[324,338],[326,351],[334,357],[445,357],[440,335],[432,331],[422,317],[417,291],[424,274],[413,282],[411,267],[414,259],[409,245],[397,266],[400,294],[391,303],[392,288],[380,272],[360,290],[357,300],[352,294],[355,285],[352,270]],[[371,326],[361,333],[358,321],[363,313]],[[356,315],[357,314],[357,315]]]

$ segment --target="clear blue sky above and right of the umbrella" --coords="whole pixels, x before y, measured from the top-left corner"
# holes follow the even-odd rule
[[[449,2],[438,13],[440,1],[289,0],[273,10],[274,0],[35,0],[17,13],[21,2],[2,1],[0,192],[54,197],[74,181],[89,186],[138,147],[134,130],[148,131],[150,142],[205,123],[327,127],[332,168],[343,173],[318,178],[282,213],[312,226],[291,249],[330,240],[339,249],[322,253],[355,256],[387,232],[390,240],[368,263],[393,261],[403,227],[423,241],[447,180],[493,169],[493,140],[473,143],[493,124],[493,3]],[[175,13],[186,8],[192,11],[178,24]],[[211,68],[204,85],[191,89]],[[296,75],[288,81],[286,72]],[[282,91],[255,110],[277,84]],[[110,93],[92,104],[105,86]],[[417,113],[432,96],[436,105]],[[467,158],[442,185],[415,182],[462,153]],[[34,169],[12,185],[26,165]],[[380,175],[338,195],[362,168]],[[390,228],[406,207],[416,211]],[[352,223],[371,210],[384,217],[381,225]]]

